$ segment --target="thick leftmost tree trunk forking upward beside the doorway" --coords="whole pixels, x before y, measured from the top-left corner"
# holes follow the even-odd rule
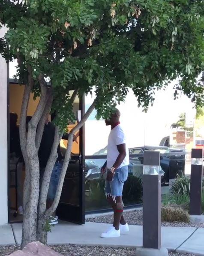
[[[30,71],[29,76],[32,80],[32,72]],[[31,83],[31,82],[30,82]],[[27,87],[25,87],[25,94],[27,95]],[[30,95],[30,94],[29,94]],[[27,95],[28,96],[28,95]],[[38,216],[38,200],[39,200],[39,158],[38,150],[36,149],[35,139],[36,130],[40,118],[42,117],[46,101],[47,101],[47,88],[41,86],[41,98],[39,104],[33,114],[32,119],[28,124],[28,133],[26,135],[26,115],[27,108],[24,107],[25,102],[22,102],[21,113],[21,148],[25,155],[26,165],[26,184],[24,186],[24,220],[22,230],[22,241],[21,248],[26,246],[28,243],[37,240],[37,216]],[[29,97],[26,98],[26,104],[28,105]],[[26,105],[26,106],[27,106]],[[26,144],[25,143],[26,139]],[[23,145],[22,145],[23,144]],[[25,146],[26,145],[26,146]],[[26,154],[25,154],[26,152]]]

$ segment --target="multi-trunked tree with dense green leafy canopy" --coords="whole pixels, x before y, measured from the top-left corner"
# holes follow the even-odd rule
[[[46,243],[45,220],[60,199],[73,134],[94,108],[97,118],[109,116],[131,88],[146,111],[154,90],[174,78],[175,97],[183,90],[196,105],[203,104],[203,87],[196,80],[204,63],[203,20],[201,0],[0,0],[0,21],[9,28],[0,52],[7,61],[18,60],[19,82],[26,84],[20,120],[26,165],[22,246]],[[57,194],[46,210],[57,145],[74,119],[73,100],[93,87],[96,99],[69,131]],[[31,91],[40,101],[26,133]],[[38,150],[50,111],[56,114],[55,139],[40,188]]]

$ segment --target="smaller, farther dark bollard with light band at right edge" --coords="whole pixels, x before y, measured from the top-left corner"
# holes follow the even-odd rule
[[[201,215],[203,149],[193,148],[191,152],[190,215]]]

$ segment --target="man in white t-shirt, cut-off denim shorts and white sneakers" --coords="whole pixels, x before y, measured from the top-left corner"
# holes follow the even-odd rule
[[[129,231],[128,224],[123,217],[123,184],[128,178],[129,151],[126,138],[120,126],[120,111],[116,109],[110,119],[105,120],[111,126],[108,137],[107,162],[102,167],[102,173],[107,173],[105,194],[114,211],[114,223],[103,238],[118,237]]]

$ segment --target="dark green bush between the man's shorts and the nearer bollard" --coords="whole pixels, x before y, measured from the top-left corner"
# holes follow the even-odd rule
[[[140,203],[142,201],[142,191],[141,178],[129,175],[123,187],[123,202]]]

